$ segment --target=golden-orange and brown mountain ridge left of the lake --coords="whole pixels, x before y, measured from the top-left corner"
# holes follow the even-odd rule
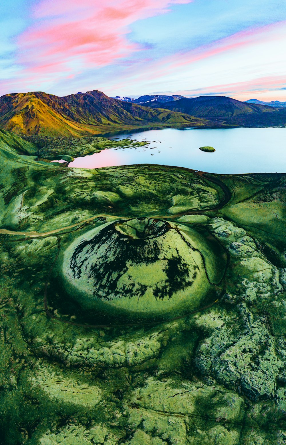
[[[175,124],[207,122],[177,111],[118,101],[98,90],[65,97],[39,91],[0,97],[0,127],[18,134],[70,137]]]

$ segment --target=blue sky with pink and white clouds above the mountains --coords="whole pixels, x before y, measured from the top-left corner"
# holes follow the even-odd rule
[[[286,101],[285,0],[3,0],[0,95]]]

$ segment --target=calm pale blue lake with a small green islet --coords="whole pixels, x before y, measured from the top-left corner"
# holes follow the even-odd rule
[[[109,136],[113,140],[125,138],[150,144],[103,150],[76,158],[69,167],[161,164],[222,174],[286,173],[286,128],[168,128]],[[199,150],[201,146],[213,146],[216,151],[205,153]]]

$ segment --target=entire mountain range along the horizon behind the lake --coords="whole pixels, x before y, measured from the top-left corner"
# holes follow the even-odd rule
[[[135,99],[144,105],[126,99],[131,98],[118,100],[98,90],[64,97],[39,91],[5,94],[0,97],[0,128],[26,135],[81,137],[140,127],[286,125],[286,107],[225,96]]]

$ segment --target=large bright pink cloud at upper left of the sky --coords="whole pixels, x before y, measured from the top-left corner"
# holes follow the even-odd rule
[[[22,80],[54,74],[68,78],[143,50],[127,38],[136,20],[192,0],[44,0],[34,24],[18,38]]]

